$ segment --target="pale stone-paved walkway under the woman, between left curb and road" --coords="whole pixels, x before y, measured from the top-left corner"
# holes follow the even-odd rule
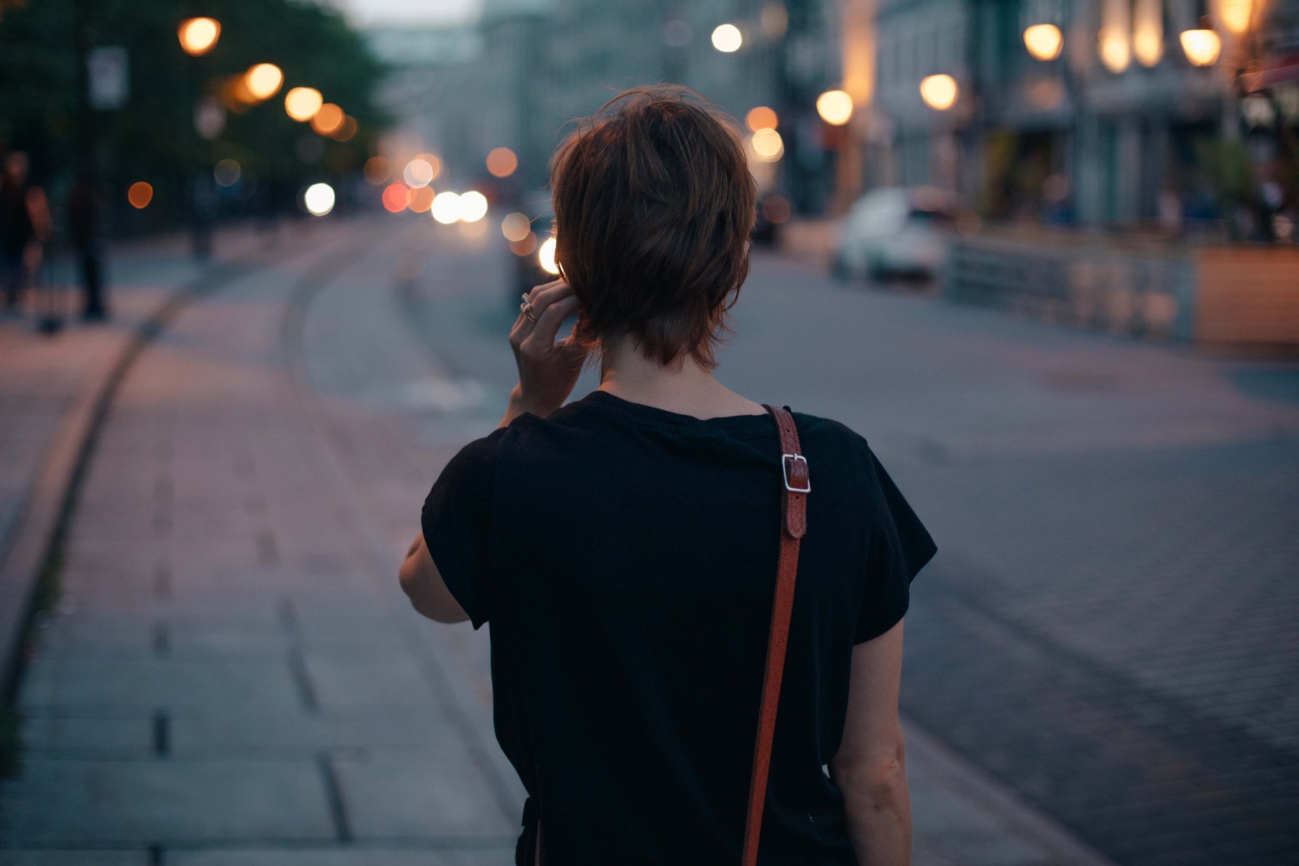
[[[130,369],[19,696],[0,863],[513,862],[487,631],[395,583],[499,395],[414,341],[391,225],[322,224]],[[917,863],[1102,862],[918,731],[908,765]]]

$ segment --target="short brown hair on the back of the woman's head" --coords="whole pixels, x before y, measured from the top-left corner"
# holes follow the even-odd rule
[[[716,367],[756,218],[733,121],[686,87],[622,92],[560,144],[551,195],[582,341],[631,337],[664,365]]]

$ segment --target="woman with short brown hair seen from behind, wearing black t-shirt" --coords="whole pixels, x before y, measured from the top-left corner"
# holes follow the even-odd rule
[[[525,295],[505,417],[400,573],[421,614],[491,623],[516,863],[909,862],[902,620],[934,542],[865,440],[712,374],[755,220],[737,134],[627,91],[551,192],[565,278]]]

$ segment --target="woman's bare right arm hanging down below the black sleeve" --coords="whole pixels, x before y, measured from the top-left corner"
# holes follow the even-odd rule
[[[899,620],[852,649],[848,716],[830,761],[830,779],[843,792],[848,836],[861,866],[911,863],[911,794],[898,719],[902,632]]]

